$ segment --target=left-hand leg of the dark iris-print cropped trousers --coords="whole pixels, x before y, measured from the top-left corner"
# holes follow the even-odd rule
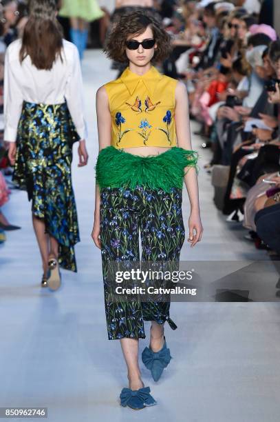
[[[103,188],[100,190],[100,240],[105,292],[108,339],[145,338],[141,302],[117,300],[109,283],[110,265],[121,261],[140,261],[139,196],[136,190]],[[127,268],[129,270],[129,268]],[[114,285],[113,285],[114,284]],[[114,300],[113,300],[114,299]]]

